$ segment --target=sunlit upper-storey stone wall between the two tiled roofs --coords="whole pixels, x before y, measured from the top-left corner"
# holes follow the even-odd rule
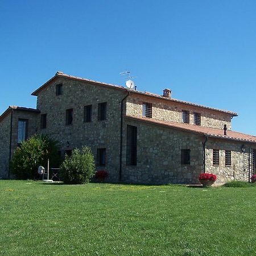
[[[126,114],[142,117],[143,102],[152,104],[152,118],[154,119],[181,123],[181,110],[188,110],[189,123],[192,125],[194,124],[193,113],[200,113],[201,126],[223,129],[224,125],[226,125],[231,130],[231,117],[229,114],[136,94],[132,94],[132,96],[127,98]]]

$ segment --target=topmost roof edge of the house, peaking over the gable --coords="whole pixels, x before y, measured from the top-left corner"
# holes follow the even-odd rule
[[[222,112],[225,114],[229,114],[233,117],[237,116],[237,113],[235,112],[230,112],[228,110],[221,110],[221,109],[216,109],[216,108],[210,108],[208,106],[203,106],[203,105],[199,105],[199,104],[195,104],[195,103],[191,103],[191,102],[187,102],[187,101],[181,101],[181,100],[176,100],[175,98],[167,98],[167,97],[163,97],[160,96],[158,94],[154,94],[154,93],[149,93],[149,92],[139,92],[137,90],[131,90],[128,88],[125,88],[123,86],[120,85],[114,85],[114,84],[107,84],[105,82],[98,82],[98,81],[94,81],[94,80],[90,80],[90,79],[84,79],[81,77],[76,77],[76,76],[71,76],[71,75],[67,75],[64,74],[63,72],[57,72],[55,74],[55,76],[53,76],[51,79],[49,79],[46,83],[44,83],[42,86],[40,86],[38,89],[36,89],[34,92],[31,93],[31,95],[33,96],[38,96],[38,94],[46,89],[53,81],[55,81],[58,77],[64,77],[66,79],[71,79],[71,80],[76,80],[76,81],[82,81],[82,82],[88,82],[90,84],[97,84],[97,85],[102,85],[102,86],[107,86],[113,89],[118,89],[118,90],[123,90],[126,92],[130,92],[133,94],[139,94],[139,95],[144,95],[144,96],[149,96],[149,97],[154,97],[155,99],[160,99],[160,100],[167,100],[167,101],[171,101],[171,102],[178,102],[180,104],[185,104],[185,105],[190,105],[190,106],[196,106],[198,108],[204,108],[204,109],[209,109],[209,110],[213,110],[213,111],[217,111],[217,112]]]

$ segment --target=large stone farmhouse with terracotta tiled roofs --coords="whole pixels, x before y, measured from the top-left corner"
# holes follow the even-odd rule
[[[36,109],[9,106],[0,116],[0,177],[8,178],[15,148],[34,133],[59,142],[60,154],[92,148],[109,181],[198,184],[249,180],[256,137],[231,130],[237,114],[57,72],[36,89]]]

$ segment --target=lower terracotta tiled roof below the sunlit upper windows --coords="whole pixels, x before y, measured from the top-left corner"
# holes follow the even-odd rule
[[[137,121],[143,121],[147,123],[154,123],[155,125],[162,125],[162,126],[171,127],[177,130],[201,134],[201,135],[214,137],[214,138],[256,143],[255,136],[238,133],[237,131],[227,130],[226,131],[227,135],[224,135],[224,130],[222,129],[214,129],[214,128],[204,127],[200,125],[190,125],[188,123],[174,123],[174,122],[167,122],[167,121],[161,121],[161,120],[144,118],[144,117],[132,117],[131,115],[126,115],[126,118],[137,120]]]

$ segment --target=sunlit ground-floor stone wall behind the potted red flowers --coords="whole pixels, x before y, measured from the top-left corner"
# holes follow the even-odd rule
[[[242,145],[245,147],[245,152],[241,150]],[[252,164],[251,159],[249,159],[250,148],[255,150],[256,145],[210,138],[205,148],[205,172],[216,174],[216,183],[220,184],[230,180],[248,181],[249,169],[251,169]],[[217,166],[213,164],[213,150],[219,152],[219,164]],[[230,166],[226,166],[226,151],[231,151]]]

